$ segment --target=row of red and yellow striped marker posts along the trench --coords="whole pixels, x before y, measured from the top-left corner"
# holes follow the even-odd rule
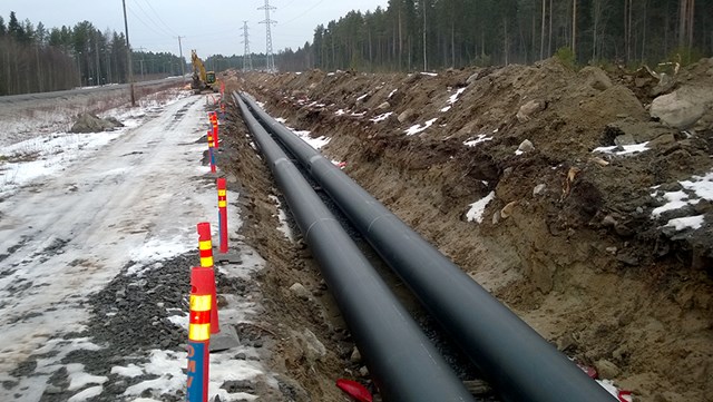
[[[208,130],[208,153],[211,156],[211,173],[216,173],[215,151],[218,148],[218,121],[215,111],[208,112],[211,130]],[[227,241],[227,188],[225,178],[216,180],[218,192],[218,252],[226,254]],[[188,402],[208,401],[209,382],[209,351],[211,335],[221,332],[218,322],[215,271],[213,257],[213,241],[211,224],[199,223],[198,253],[201,266],[191,271],[191,312],[188,318],[188,370],[187,392]]]

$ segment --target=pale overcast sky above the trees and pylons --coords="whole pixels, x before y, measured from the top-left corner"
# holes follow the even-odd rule
[[[169,51],[178,55],[178,36],[185,37],[183,55],[196,49],[205,59],[211,55],[243,55],[243,21],[247,21],[251,51],[266,48],[265,0],[126,0],[129,39],[134,49]],[[273,50],[296,50],[312,42],[314,28],[356,9],[385,8],[388,0],[270,0],[275,7],[271,19]],[[10,11],[35,26],[75,26],[87,20],[98,29],[124,31],[121,0],[0,0],[0,16],[8,22]]]

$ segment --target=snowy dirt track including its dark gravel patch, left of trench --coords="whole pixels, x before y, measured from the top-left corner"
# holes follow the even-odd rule
[[[0,141],[0,400],[183,399],[195,225],[217,227],[204,105],[169,91],[107,111],[126,125],[115,131]],[[238,197],[228,192],[228,212]],[[237,249],[242,263],[216,269],[224,290],[264,264]],[[225,295],[224,323],[256,314],[246,295]],[[212,354],[211,371],[209,394],[223,401],[256,398],[255,385],[226,383],[277,386],[250,345]]]

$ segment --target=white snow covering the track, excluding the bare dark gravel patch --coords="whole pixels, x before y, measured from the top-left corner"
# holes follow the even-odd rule
[[[160,268],[159,261],[195,249],[196,223],[209,222],[216,232],[215,186],[198,179],[208,174],[199,165],[205,147],[196,144],[203,127],[207,128],[201,99],[175,94],[165,102],[107,115],[117,116],[127,127],[88,135],[41,134],[0,147],[2,401],[39,401],[49,378],[62,366],[69,389],[77,391],[70,401],[99,395],[106,376],[91,375],[81,364],[61,363],[70,352],[102,347],[69,335],[86,329],[87,297],[129,261],[136,264],[128,274],[139,274],[146,264],[154,262],[149,267]],[[4,128],[3,135],[14,135]],[[229,210],[237,197],[228,192],[231,233],[241,225],[238,215]],[[219,269],[228,276],[247,276],[263,263],[251,252],[241,266]],[[232,300],[229,306],[236,307],[221,311],[223,322],[246,320],[252,311],[244,301]],[[173,322],[187,326],[186,316]],[[244,347],[237,352],[253,353]],[[263,372],[258,361],[236,361],[233,355],[211,356],[211,398],[253,400],[253,395],[228,395],[221,389],[224,381]],[[14,374],[30,356],[37,360],[35,373]],[[129,400],[149,388],[173,394],[185,391],[185,352],[155,350],[150,356],[135,357],[136,364],[113,372],[127,378],[154,374],[154,379],[129,388]],[[149,360],[138,363],[139,357]]]

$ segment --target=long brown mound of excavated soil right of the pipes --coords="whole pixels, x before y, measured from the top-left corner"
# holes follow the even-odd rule
[[[323,151],[351,177],[602,378],[643,401],[713,395],[713,194],[686,187],[713,167],[713,105],[701,95],[713,94],[713,59],[663,78],[550,59],[438,76],[253,73],[231,86],[331,137]],[[672,94],[685,127],[652,118]],[[672,194],[697,198],[656,213]],[[688,217],[699,224],[673,224]]]

